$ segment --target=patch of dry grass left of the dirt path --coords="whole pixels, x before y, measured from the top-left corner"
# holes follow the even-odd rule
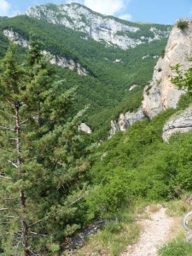
[[[126,247],[134,244],[140,229],[134,222],[134,214],[125,209],[116,215],[116,220],[105,224],[102,230],[91,236],[84,247],[73,255],[109,255],[118,256]]]

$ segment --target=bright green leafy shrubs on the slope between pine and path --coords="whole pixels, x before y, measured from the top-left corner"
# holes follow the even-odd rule
[[[168,201],[192,189],[192,134],[172,137],[168,144],[161,138],[166,119],[176,111],[137,122],[98,148],[91,171],[96,184],[89,198],[91,214],[104,216],[139,197]]]

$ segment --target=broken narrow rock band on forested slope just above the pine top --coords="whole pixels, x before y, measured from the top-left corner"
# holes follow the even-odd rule
[[[11,30],[3,30],[3,34],[9,38],[10,41],[14,42],[15,44],[19,44],[21,47],[29,48],[29,43],[27,40],[22,38],[18,32],[14,32]],[[49,55],[49,62],[51,64],[55,64],[60,67],[68,68],[71,70],[77,71],[79,75],[88,75],[88,72],[84,67],[81,67],[79,63],[76,63],[73,60],[67,60],[65,57],[60,57],[58,55],[52,55],[47,50],[42,50],[43,55]]]

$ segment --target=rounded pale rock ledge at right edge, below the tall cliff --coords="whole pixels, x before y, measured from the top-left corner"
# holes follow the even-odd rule
[[[168,142],[169,138],[177,132],[188,132],[192,130],[192,107],[186,108],[183,112],[173,116],[164,125],[163,140]]]

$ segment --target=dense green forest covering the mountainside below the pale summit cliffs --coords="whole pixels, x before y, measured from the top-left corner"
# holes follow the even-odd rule
[[[152,25],[138,26],[142,28],[140,34],[144,37]],[[162,31],[170,27],[153,26]],[[167,38],[162,38],[126,50],[115,45],[107,47],[105,42],[85,39],[84,32],[74,32],[65,26],[53,25],[26,15],[2,20],[0,28],[2,56],[8,45],[3,30],[18,32],[26,40],[32,32],[51,54],[72,59],[87,70],[89,75],[79,76],[75,71],[57,67],[58,76],[66,79],[65,88],[78,86],[75,109],[90,105],[84,121],[95,131],[93,136],[97,139],[108,136],[110,119],[116,118],[119,112],[139,107],[143,85],[151,79],[154,63],[167,41]],[[137,33],[130,34],[137,38]],[[129,91],[132,84],[138,84],[138,87]]]

